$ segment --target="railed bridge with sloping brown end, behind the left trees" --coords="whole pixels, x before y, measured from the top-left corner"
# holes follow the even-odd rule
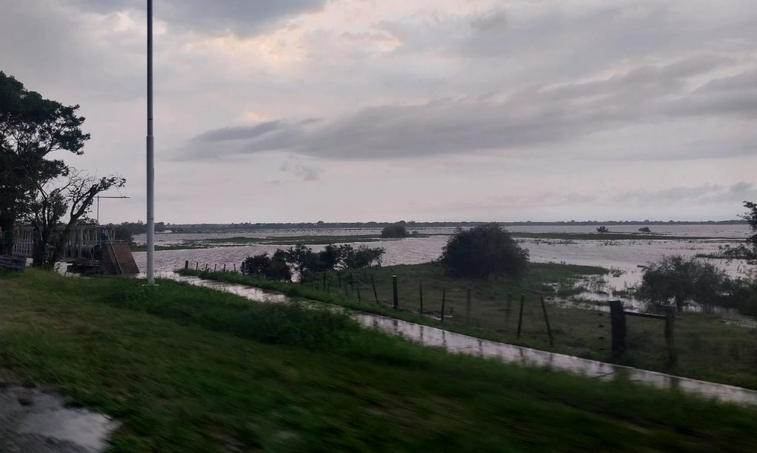
[[[86,274],[130,275],[139,274],[128,244],[113,240],[114,229],[101,225],[79,225],[71,229],[60,258],[69,263],[70,271]],[[21,226],[14,232],[13,253],[0,260],[17,263],[34,255],[34,230],[31,226]],[[8,266],[10,267],[10,266]],[[21,266],[23,267],[23,266]]]

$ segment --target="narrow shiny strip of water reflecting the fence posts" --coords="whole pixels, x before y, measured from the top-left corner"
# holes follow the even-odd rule
[[[294,299],[284,294],[272,291],[260,290],[238,284],[227,284],[210,281],[197,277],[184,277],[166,272],[160,275],[164,278],[173,278],[202,287],[212,287],[235,293],[248,299],[269,303],[302,302],[304,299]],[[496,358],[507,363],[517,365],[547,368],[553,371],[568,371],[574,374],[583,374],[600,380],[628,380],[636,383],[656,386],[662,389],[678,389],[683,392],[706,398],[714,398],[724,402],[739,402],[757,405],[757,391],[743,389],[736,386],[728,386],[718,383],[709,383],[701,380],[687,379],[685,377],[672,376],[670,374],[646,371],[620,365],[612,365],[601,361],[587,360],[571,355],[555,354],[553,352],[540,351],[537,349],[513,346],[506,343],[497,343],[489,340],[481,340],[463,334],[456,334],[448,330],[436,327],[423,326],[412,322],[400,321],[381,315],[372,315],[364,312],[343,309],[325,303],[306,301],[313,306],[326,306],[329,309],[343,310],[349,313],[360,324],[366,327],[375,327],[390,334],[405,337],[409,340],[421,343],[424,346],[439,346],[450,352],[459,354],[476,355],[485,358]]]

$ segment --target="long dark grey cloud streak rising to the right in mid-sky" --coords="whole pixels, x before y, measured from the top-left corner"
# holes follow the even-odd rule
[[[227,154],[285,149],[338,160],[425,157],[575,142],[594,132],[659,121],[666,116],[717,116],[723,110],[721,104],[736,97],[740,90],[749,93],[752,87],[748,83],[724,82],[731,88],[702,88],[687,93],[685,86],[690,77],[707,74],[730,62],[724,57],[699,55],[671,64],[643,65],[590,82],[526,87],[508,97],[449,98],[426,104],[370,107],[330,121],[282,121],[220,129],[205,132],[195,141],[202,138],[216,145],[232,137],[239,143],[226,147]],[[721,147],[702,147],[696,157],[718,156],[722,152]],[[665,158],[666,153],[655,150],[658,159]],[[613,157],[624,156],[610,158]]]

